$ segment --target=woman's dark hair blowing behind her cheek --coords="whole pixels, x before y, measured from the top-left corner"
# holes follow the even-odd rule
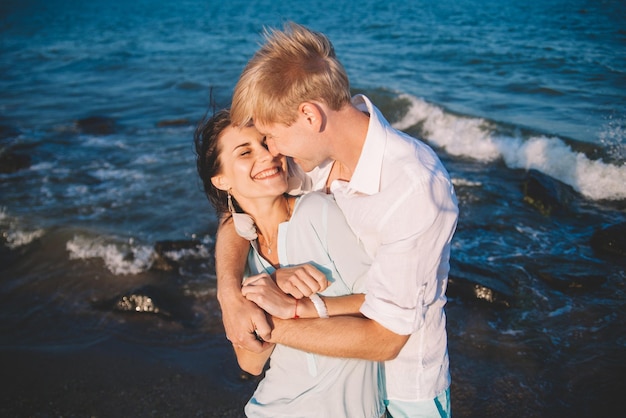
[[[230,111],[220,110],[211,117],[204,117],[196,127],[194,132],[194,144],[196,151],[196,167],[198,175],[204,186],[204,193],[209,202],[218,214],[228,214],[228,193],[218,189],[211,183],[211,177],[220,174],[222,165],[219,159],[221,148],[219,139],[226,128],[231,125]],[[235,199],[233,205],[237,210],[241,210]]]

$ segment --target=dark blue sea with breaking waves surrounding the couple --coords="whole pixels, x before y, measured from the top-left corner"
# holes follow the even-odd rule
[[[451,277],[504,299],[450,294],[458,415],[575,416],[624,388],[624,264],[589,239],[624,221],[626,3],[7,0],[0,15],[0,152],[27,160],[0,173],[2,348],[124,333],[94,302],[161,284],[167,241],[197,243],[170,251],[167,283],[199,331],[135,338],[175,347],[219,328],[193,131],[229,105],[263,28],[293,20],[328,35],[353,90],[439,153],[461,209]],[[529,205],[529,170],[574,201],[548,216]],[[572,292],[553,276],[601,280]]]

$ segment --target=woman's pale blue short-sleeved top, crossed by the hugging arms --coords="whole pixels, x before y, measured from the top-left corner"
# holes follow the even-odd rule
[[[362,250],[332,196],[308,193],[293,215],[279,226],[278,258],[282,267],[312,263],[332,284],[321,294],[364,293],[370,259]],[[272,273],[256,242],[248,254],[248,274]],[[363,417],[384,412],[379,364],[326,357],[277,345],[270,367],[245,407],[248,417]]]

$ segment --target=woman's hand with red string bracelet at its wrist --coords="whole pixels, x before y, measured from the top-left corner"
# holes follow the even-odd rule
[[[241,287],[241,293],[277,318],[290,319],[297,314],[296,299],[280,290],[269,274],[262,273],[247,278]]]

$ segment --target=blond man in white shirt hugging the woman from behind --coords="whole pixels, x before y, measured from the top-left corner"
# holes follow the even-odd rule
[[[373,259],[363,317],[274,319],[270,329],[263,312],[238,294],[243,245],[222,227],[218,298],[231,342],[262,350],[254,332],[319,354],[385,361],[393,417],[450,416],[444,305],[458,207],[438,157],[393,129],[367,97],[350,99],[330,41],[294,23],[266,32],[235,87],[231,117],[254,123],[273,154],[292,157],[314,188],[330,190]],[[285,274],[292,273],[299,276],[293,283],[305,283],[292,294],[317,290],[314,273]]]

